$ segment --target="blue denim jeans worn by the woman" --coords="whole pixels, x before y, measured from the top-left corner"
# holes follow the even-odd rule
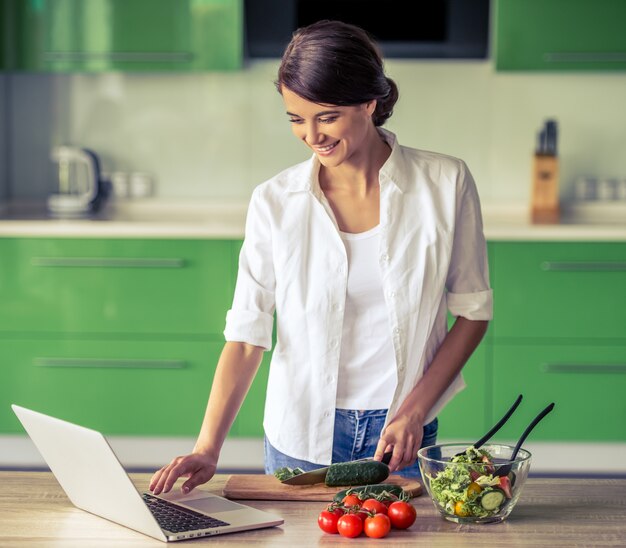
[[[353,411],[335,410],[335,431],[333,435],[332,462],[346,462],[373,457],[378,445],[380,433],[387,416],[386,409]],[[434,445],[437,441],[437,419],[424,426],[422,447]],[[304,471],[321,468],[323,464],[295,459],[281,453],[265,438],[265,473],[273,474],[277,468],[302,468]],[[419,478],[417,461],[412,466],[394,472],[407,478]]]

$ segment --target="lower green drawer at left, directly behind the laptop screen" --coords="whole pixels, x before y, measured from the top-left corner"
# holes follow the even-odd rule
[[[0,344],[4,433],[24,432],[16,403],[107,434],[196,436],[222,349],[189,340]]]

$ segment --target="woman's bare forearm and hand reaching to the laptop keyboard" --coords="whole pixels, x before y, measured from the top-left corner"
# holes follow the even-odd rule
[[[226,435],[237,416],[263,358],[263,348],[241,342],[227,342],[217,364],[200,434],[190,455],[176,457],[150,480],[150,490],[167,493],[180,477],[187,493],[209,481]],[[183,394],[184,397],[184,394]]]

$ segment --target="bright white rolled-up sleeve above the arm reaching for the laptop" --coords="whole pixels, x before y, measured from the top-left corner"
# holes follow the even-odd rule
[[[272,253],[270,205],[263,200],[262,185],[250,200],[243,246],[239,254],[237,284],[231,309],[226,313],[224,337],[272,348],[275,275]]]

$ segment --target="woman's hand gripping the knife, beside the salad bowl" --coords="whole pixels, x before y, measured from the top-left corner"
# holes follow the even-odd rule
[[[382,460],[384,453],[393,451],[389,461],[390,472],[411,466],[417,459],[423,435],[424,423],[421,419],[398,413],[382,431],[374,459]]]

